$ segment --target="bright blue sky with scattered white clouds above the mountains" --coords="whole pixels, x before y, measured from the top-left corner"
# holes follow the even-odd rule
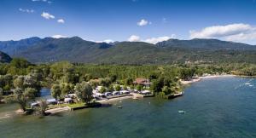
[[[1,41],[59,35],[94,41],[200,37],[256,43],[255,0],[1,0],[0,19]]]

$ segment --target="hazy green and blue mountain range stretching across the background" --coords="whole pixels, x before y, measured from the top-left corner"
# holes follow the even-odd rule
[[[143,42],[96,43],[80,37],[30,37],[0,42],[0,51],[33,63],[69,60],[96,64],[170,64],[187,62],[256,63],[256,46],[218,39],[169,39]]]

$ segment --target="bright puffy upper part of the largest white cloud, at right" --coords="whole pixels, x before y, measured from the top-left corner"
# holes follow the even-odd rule
[[[248,32],[253,27],[247,24],[230,24],[226,26],[208,26],[199,32],[190,31],[191,38],[218,38],[236,35],[242,32]]]

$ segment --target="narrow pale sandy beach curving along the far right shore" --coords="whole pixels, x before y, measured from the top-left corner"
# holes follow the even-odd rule
[[[205,79],[205,78],[224,78],[224,77],[236,77],[236,76],[237,76],[237,75],[231,75],[231,74],[209,75],[209,76],[202,76],[202,77],[199,77],[199,78],[191,79],[191,80],[189,80],[189,81],[180,80],[180,82],[181,82],[183,85],[187,85],[187,84],[199,82],[199,81],[201,81],[202,79]]]

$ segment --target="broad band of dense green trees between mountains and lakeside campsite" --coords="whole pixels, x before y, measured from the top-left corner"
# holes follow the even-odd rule
[[[105,90],[102,89],[102,92],[106,89],[116,89],[113,84],[143,89],[140,85],[134,85],[133,81],[136,78],[148,78],[152,82],[150,90],[155,95],[166,97],[182,90],[179,79],[189,80],[206,73],[255,76],[256,66],[246,63],[165,66],[84,65],[67,61],[34,65],[24,59],[13,59],[9,64],[0,64],[0,100],[5,96],[24,105],[22,102],[38,96],[42,87],[51,88],[53,95],[61,98],[74,92],[75,86],[83,82],[90,83],[92,89],[98,85],[104,86]]]

